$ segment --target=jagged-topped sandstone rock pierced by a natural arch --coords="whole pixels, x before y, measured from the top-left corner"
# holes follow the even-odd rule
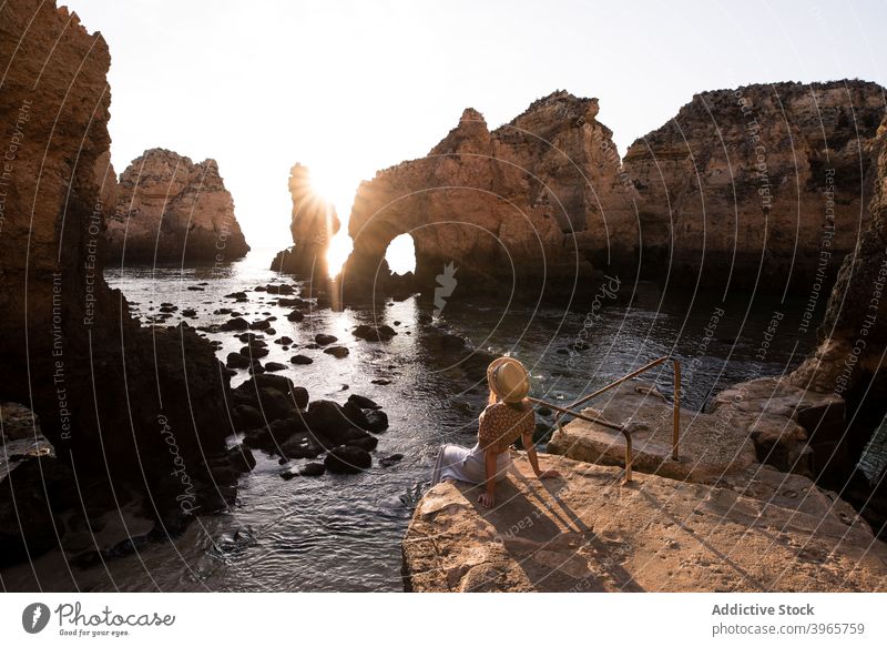
[[[597,114],[597,99],[555,92],[490,132],[467,109],[428,155],[360,185],[346,279],[375,273],[388,243],[409,233],[419,277],[453,262],[461,276],[506,290],[512,280],[539,289],[544,277],[570,291],[592,271],[582,232],[624,220],[631,206],[612,133]]]

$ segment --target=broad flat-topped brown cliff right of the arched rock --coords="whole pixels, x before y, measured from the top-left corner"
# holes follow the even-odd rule
[[[884,88],[861,81],[695,95],[623,160],[644,255],[661,266],[671,254],[691,283],[809,290],[817,271],[830,283],[865,230],[884,110]]]

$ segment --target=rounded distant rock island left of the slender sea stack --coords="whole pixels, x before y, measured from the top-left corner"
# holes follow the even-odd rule
[[[215,160],[195,164],[164,149],[121,175],[106,237],[112,259],[133,262],[225,262],[249,251]]]

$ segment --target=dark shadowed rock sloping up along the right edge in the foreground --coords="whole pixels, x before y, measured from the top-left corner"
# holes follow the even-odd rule
[[[713,403],[744,395],[744,408],[756,418],[785,418],[786,394],[832,398],[834,404],[797,419],[809,435],[813,472],[840,489],[883,532],[887,524],[887,473],[865,474],[865,452],[887,414],[887,122],[866,144],[859,161],[867,169],[864,185],[873,196],[864,209],[867,223],[852,254],[844,259],[819,326],[819,345],[796,371],[782,380],[757,380],[731,387]],[[791,416],[788,416],[791,417]],[[883,451],[883,449],[881,449]],[[879,464],[880,457],[876,463]]]

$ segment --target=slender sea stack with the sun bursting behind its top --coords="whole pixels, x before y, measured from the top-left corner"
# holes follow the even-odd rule
[[[328,275],[326,251],[339,231],[336,210],[312,188],[310,171],[302,164],[295,164],[289,171],[289,195],[293,199],[289,221],[293,246],[278,252],[271,269],[325,281]]]

